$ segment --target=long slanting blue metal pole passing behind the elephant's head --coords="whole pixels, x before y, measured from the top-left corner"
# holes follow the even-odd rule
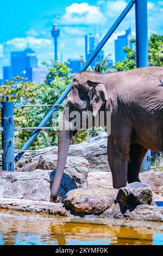
[[[121,15],[118,17],[118,19],[114,22],[114,24],[112,25],[112,27],[109,29],[108,33],[105,34],[104,38],[101,40],[101,42],[99,42],[99,44],[97,45],[96,49],[92,52],[92,54],[90,55],[90,57],[86,60],[86,62],[84,63],[84,65],[82,66],[82,68],[79,70],[79,72],[83,72],[85,71],[88,66],[91,64],[92,60],[97,56],[98,52],[101,51],[102,47],[105,45],[105,43],[108,41],[108,39],[110,38],[110,36],[112,35],[112,33],[114,33],[114,31],[116,30],[116,28],[120,25],[121,21],[124,19],[124,17],[128,14],[129,10],[133,7],[135,3],[135,0],[131,1],[128,3],[127,7],[124,8],[124,10],[122,11]],[[71,82],[72,83],[72,82]],[[62,103],[62,101],[65,100],[65,97],[67,96],[68,93],[70,93],[71,91],[71,83],[68,85],[68,87],[65,89],[65,91],[61,94],[61,96],[59,97],[59,99],[57,100],[57,102],[55,102],[55,105],[60,105]],[[24,144],[24,146],[22,147],[22,151],[27,150],[30,145],[33,143],[34,139],[37,137],[37,135],[39,135],[39,133],[41,132],[41,130],[39,129],[39,127],[43,127],[47,124],[48,120],[52,117],[53,113],[57,110],[58,106],[54,106],[50,109],[50,111],[47,113],[46,117],[43,118],[43,120],[41,121],[41,123],[38,126],[38,129],[35,130],[32,134],[32,136],[30,136],[30,138],[28,139],[28,141]],[[18,153],[15,157],[15,161],[18,161],[24,153]]]

